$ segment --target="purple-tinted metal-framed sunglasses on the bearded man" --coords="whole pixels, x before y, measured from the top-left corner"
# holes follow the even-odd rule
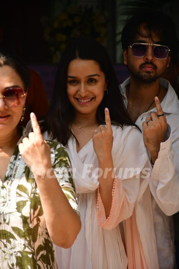
[[[147,53],[147,45],[152,45],[153,54],[156,59],[166,59],[170,49],[167,46],[150,43],[134,43],[128,48],[131,48],[132,55],[135,57],[144,57]]]

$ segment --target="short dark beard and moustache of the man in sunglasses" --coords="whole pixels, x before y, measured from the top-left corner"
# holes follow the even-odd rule
[[[151,65],[154,68],[154,72],[143,70],[143,66],[145,66],[145,65]],[[127,68],[128,68],[128,70],[130,72],[130,75],[135,80],[137,80],[138,82],[142,82],[142,83],[153,83],[160,76],[162,76],[162,74],[165,72],[165,70],[167,68],[167,64],[166,64],[166,66],[164,66],[162,68],[162,70],[158,70],[157,66],[154,63],[152,63],[152,62],[142,63],[139,66],[139,69],[138,70],[136,70],[134,66],[130,66],[130,65],[127,65]]]

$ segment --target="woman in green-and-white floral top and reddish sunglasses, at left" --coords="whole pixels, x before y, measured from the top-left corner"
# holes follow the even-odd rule
[[[52,241],[70,247],[81,222],[65,148],[17,127],[30,78],[19,59],[0,51],[0,267],[57,268]],[[31,169],[31,170],[30,170]]]

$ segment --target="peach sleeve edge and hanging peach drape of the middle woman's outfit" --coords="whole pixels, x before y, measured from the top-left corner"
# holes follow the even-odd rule
[[[149,167],[149,164],[146,166]],[[98,193],[99,225],[111,230],[120,222],[123,224],[128,269],[159,269],[149,178],[140,180],[139,194],[133,213],[126,219],[125,213],[122,214],[129,203],[123,189],[125,180],[115,179],[111,213],[107,219],[100,193]]]

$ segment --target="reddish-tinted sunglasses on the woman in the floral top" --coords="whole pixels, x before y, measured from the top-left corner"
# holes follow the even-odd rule
[[[24,89],[20,87],[9,87],[6,88],[3,95],[0,94],[0,98],[4,100],[7,107],[19,107],[20,105],[24,105],[25,95]]]

